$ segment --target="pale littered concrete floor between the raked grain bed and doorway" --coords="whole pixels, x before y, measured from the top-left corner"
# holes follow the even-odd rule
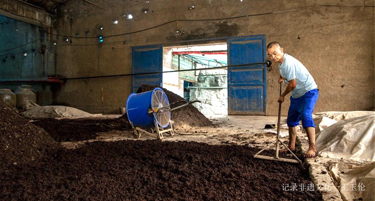
[[[95,115],[93,118],[117,118],[120,115]],[[239,144],[249,145],[252,147],[261,147],[265,142],[276,139],[277,129],[264,129],[265,124],[276,124],[277,117],[275,116],[246,116],[246,115],[211,115],[207,116],[215,124],[214,127],[175,127],[175,135],[164,135],[165,141],[198,141],[208,144]],[[281,123],[286,122],[286,117],[282,117]],[[178,134],[181,133],[181,134]],[[105,133],[98,133],[96,139],[90,141],[113,141],[122,139],[134,139],[132,131],[112,131]],[[287,136],[287,130],[281,130],[281,136]],[[153,139],[150,136],[142,134],[138,139]],[[288,142],[288,138],[282,138],[283,141]],[[86,143],[81,142],[62,142],[66,148],[77,147]]]

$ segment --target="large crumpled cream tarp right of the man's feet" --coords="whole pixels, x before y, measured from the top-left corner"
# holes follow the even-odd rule
[[[319,156],[375,161],[375,114],[338,121],[316,136]]]

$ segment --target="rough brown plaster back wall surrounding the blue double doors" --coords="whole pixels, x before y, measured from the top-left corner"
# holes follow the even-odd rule
[[[374,8],[323,7],[318,5],[374,5],[370,0],[202,0],[175,1],[104,1],[98,9],[83,1],[67,1],[55,23],[57,33],[74,36],[90,30],[88,36],[127,33],[177,19],[212,19],[294,10],[269,15],[215,21],[178,21],[135,34],[105,38],[99,46],[96,39],[74,39],[57,48],[57,71],[64,77],[113,75],[130,73],[131,46],[182,45],[181,40],[225,36],[265,34],[267,43],[278,41],[285,52],[300,60],[315,78],[320,98],[315,111],[369,110],[374,107]],[[195,5],[195,9],[187,7]],[[144,14],[142,9],[148,8]],[[178,12],[173,12],[178,10]],[[132,13],[133,20],[119,17]],[[114,18],[120,21],[111,24]],[[104,26],[99,31],[98,26]],[[178,28],[180,33],[174,30]],[[57,38],[58,41],[62,37]],[[217,41],[216,41],[217,42]],[[278,68],[267,74],[267,114],[277,115]],[[100,89],[106,85],[108,112],[117,112],[130,94],[130,77],[68,81],[57,97],[73,107],[100,112]],[[84,95],[77,98],[77,95]],[[95,100],[95,101],[94,101]],[[87,105],[87,107],[86,107]],[[283,104],[287,114],[289,96]]]

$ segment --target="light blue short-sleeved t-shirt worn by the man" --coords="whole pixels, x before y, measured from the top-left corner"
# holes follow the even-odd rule
[[[281,77],[285,78],[285,83],[288,84],[288,81],[296,79],[296,88],[292,90],[293,98],[299,98],[306,92],[318,88],[306,67],[289,54],[284,54],[279,70]]]

